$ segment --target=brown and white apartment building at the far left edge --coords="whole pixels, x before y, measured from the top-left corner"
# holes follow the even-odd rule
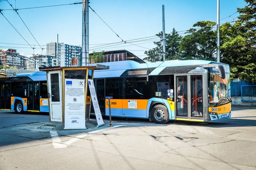
[[[0,52],[1,66],[8,65],[8,66],[16,66],[18,68],[23,67],[23,60],[20,57],[16,56],[16,54],[19,54],[19,53],[17,53],[15,49],[8,48],[2,51],[10,52],[10,54]]]

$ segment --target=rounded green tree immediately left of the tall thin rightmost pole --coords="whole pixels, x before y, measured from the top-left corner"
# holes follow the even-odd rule
[[[216,25],[212,21],[199,21],[189,29],[179,46],[180,59],[216,59],[216,31],[212,29]]]

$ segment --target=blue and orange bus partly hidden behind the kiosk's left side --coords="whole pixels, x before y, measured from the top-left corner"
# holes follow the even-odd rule
[[[0,78],[0,110],[49,112],[46,72]]]

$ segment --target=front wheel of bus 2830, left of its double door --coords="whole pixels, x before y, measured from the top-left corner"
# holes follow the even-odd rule
[[[151,116],[155,123],[164,124],[169,122],[169,114],[167,108],[161,104],[155,105],[151,109]]]

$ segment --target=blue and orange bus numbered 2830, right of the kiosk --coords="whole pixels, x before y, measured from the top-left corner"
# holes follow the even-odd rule
[[[112,116],[149,118],[155,123],[231,117],[227,64],[206,60],[99,64],[109,66],[94,71],[99,107],[107,116],[111,104]]]

